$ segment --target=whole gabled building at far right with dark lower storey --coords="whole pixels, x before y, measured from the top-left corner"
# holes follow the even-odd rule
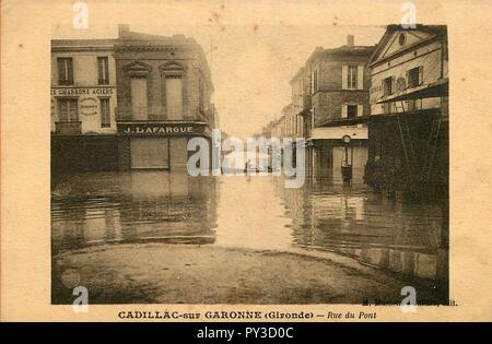
[[[407,187],[447,183],[446,26],[389,25],[370,67],[370,162],[397,170]]]

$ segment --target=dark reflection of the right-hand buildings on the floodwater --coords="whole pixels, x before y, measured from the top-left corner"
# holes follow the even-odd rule
[[[284,189],[278,182],[277,189],[293,220],[296,245],[406,275],[447,280],[440,204],[408,204],[324,179],[312,180],[304,189]]]

